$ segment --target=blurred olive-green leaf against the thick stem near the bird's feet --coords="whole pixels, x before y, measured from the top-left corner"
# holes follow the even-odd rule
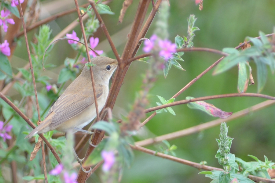
[[[83,164],[84,166],[93,166],[102,160],[101,151],[104,149],[106,142],[106,139],[100,142],[100,144],[94,149],[90,156],[88,156],[87,160]]]

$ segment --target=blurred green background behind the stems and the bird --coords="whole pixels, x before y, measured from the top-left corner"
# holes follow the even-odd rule
[[[42,1],[42,17],[50,14],[58,13],[66,8],[73,8],[73,1],[60,1],[68,6],[65,9],[55,8],[55,1]],[[86,3],[85,1],[80,1]],[[80,3],[79,2],[79,3]],[[114,0],[108,5],[115,15],[103,15],[103,20],[107,29],[112,36],[116,48],[121,55],[127,41],[127,34],[130,32],[130,26],[134,19],[134,13],[137,9],[138,1],[134,1],[127,9],[123,23],[118,24],[119,12],[122,7],[123,0]],[[207,47],[222,50],[225,47],[235,47],[243,42],[246,36],[257,37],[259,31],[270,34],[275,25],[275,1],[274,0],[205,0],[204,9],[200,11],[199,6],[195,5],[193,0],[173,0],[170,1],[170,18],[169,18],[169,38],[174,41],[175,36],[187,36],[187,18],[190,14],[194,14],[198,19],[195,26],[200,30],[196,31],[193,40],[195,47]],[[44,10],[43,10],[44,7]],[[61,7],[61,6],[60,6]],[[64,8],[64,7],[63,7]],[[152,6],[150,5],[149,11]],[[149,11],[147,16],[149,15]],[[46,13],[45,13],[46,12]],[[49,25],[53,29],[53,37],[63,30],[69,23],[77,18],[76,13],[61,17],[56,21],[50,22]],[[154,30],[155,20],[147,33],[149,38]],[[81,35],[80,27],[74,29],[78,36]],[[30,32],[29,34],[33,34]],[[95,33],[95,37],[99,37],[100,44],[96,47],[97,50],[104,50],[111,58],[115,58],[112,53],[108,41],[105,38],[102,30],[99,28]],[[140,49],[138,54],[142,54]],[[74,58],[76,52],[68,45],[67,41],[59,41],[53,48],[50,58],[47,63],[57,65],[52,70],[47,70],[46,75],[53,78],[51,83],[56,83],[57,74],[63,67],[66,57]],[[25,60],[19,59],[18,57]],[[182,58],[185,62],[181,65],[186,71],[180,71],[171,68],[168,76],[164,79],[160,75],[155,86],[150,94],[150,106],[156,106],[155,102],[159,102],[156,95],[160,95],[165,99],[171,98],[189,81],[199,75],[208,66],[220,58],[219,55],[207,52],[186,52]],[[13,68],[22,67],[27,63],[28,56],[22,40],[22,46],[16,48],[12,60]],[[116,105],[114,108],[114,116],[119,118],[120,114],[126,115],[130,111],[130,106],[134,103],[136,92],[141,90],[142,77],[147,69],[147,64],[135,61],[131,64],[125,78],[125,83],[121,87]],[[251,63],[252,74],[254,76],[255,85],[248,87],[247,92],[257,92],[257,76],[255,63]],[[268,81],[262,94],[275,96],[275,78],[268,71]],[[44,73],[43,73],[44,74]],[[184,91],[175,101],[185,99],[186,96],[202,97],[208,95],[236,93],[237,92],[237,66],[229,71],[212,76],[212,71],[205,74],[199,81],[193,84],[190,88]],[[69,83],[67,83],[68,86]],[[38,86],[39,87],[39,86]],[[16,91],[12,90],[9,93],[14,98],[18,96]],[[218,108],[227,112],[237,112],[249,106],[253,106],[264,101],[262,98],[252,97],[235,97],[228,99],[215,99],[207,102],[212,103]],[[182,130],[201,123],[215,120],[215,117],[210,117],[207,114],[198,110],[189,109],[186,105],[172,107],[176,116],[170,113],[161,113],[156,115],[148,124],[146,124],[143,138],[164,135],[174,131]],[[246,117],[233,120],[228,123],[229,136],[233,137],[231,152],[237,157],[245,161],[253,161],[247,155],[257,156],[260,160],[264,160],[266,155],[270,160],[275,161],[275,106],[268,107],[261,111],[251,113]],[[147,114],[149,116],[151,113]],[[226,121],[226,120],[225,120]],[[197,134],[187,137],[178,138],[170,141],[171,145],[175,144],[178,149],[175,151],[177,157],[194,161],[207,161],[209,166],[220,167],[218,160],[214,157],[218,144],[215,138],[218,138],[219,127],[202,131]],[[142,138],[141,138],[142,139]],[[156,150],[156,146],[149,147]],[[165,160],[159,157],[154,157],[148,154],[135,152],[135,160],[130,169],[125,169],[123,172],[123,183],[128,182],[210,182],[209,178],[204,175],[198,175],[199,170],[170,160]],[[88,180],[99,182],[99,177],[93,174]]]

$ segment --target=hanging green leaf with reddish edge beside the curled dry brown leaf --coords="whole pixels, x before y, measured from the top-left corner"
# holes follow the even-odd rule
[[[246,69],[246,63],[240,62],[238,65],[239,74],[238,74],[238,91],[239,93],[244,93],[248,87],[248,71]]]

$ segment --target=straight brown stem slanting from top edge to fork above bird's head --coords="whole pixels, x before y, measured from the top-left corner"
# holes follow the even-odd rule
[[[96,16],[97,16],[97,20],[98,20],[99,23],[100,23],[100,27],[102,28],[102,30],[103,30],[103,32],[104,32],[104,34],[105,34],[107,40],[109,41],[109,44],[110,44],[111,48],[112,48],[112,50],[113,50],[113,52],[114,52],[114,54],[115,54],[115,56],[116,56],[116,59],[117,59],[118,63],[120,64],[119,54],[118,54],[118,52],[117,52],[117,50],[116,50],[116,47],[115,47],[115,45],[114,45],[114,43],[113,43],[113,41],[112,41],[112,39],[111,39],[110,34],[108,33],[108,30],[107,30],[107,28],[106,28],[106,26],[105,26],[105,24],[104,24],[104,22],[103,22],[101,16],[99,15],[99,13],[97,12],[96,7],[94,6],[94,1],[89,1],[89,2],[90,2],[90,5],[92,6],[92,8],[94,9],[94,13],[95,13]]]

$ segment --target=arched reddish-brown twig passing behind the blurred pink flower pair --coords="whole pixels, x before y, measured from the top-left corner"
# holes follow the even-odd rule
[[[222,52],[220,50],[216,50],[216,49],[211,49],[211,48],[195,48],[195,47],[191,47],[191,48],[181,48],[181,49],[177,49],[177,52],[194,52],[194,51],[204,51],[204,52],[212,52],[212,53],[217,53],[223,56],[228,56],[228,53]],[[147,56],[152,56],[152,53],[145,53],[139,56],[136,56],[132,59],[128,60],[128,63],[133,62],[134,60],[138,60]]]

